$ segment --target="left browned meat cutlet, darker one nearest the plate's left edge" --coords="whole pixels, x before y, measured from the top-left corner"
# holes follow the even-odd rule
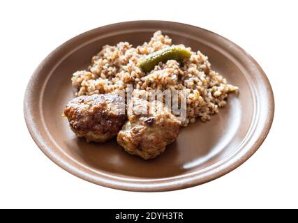
[[[87,141],[104,142],[114,137],[126,121],[124,99],[113,94],[83,95],[66,105],[70,128]]]

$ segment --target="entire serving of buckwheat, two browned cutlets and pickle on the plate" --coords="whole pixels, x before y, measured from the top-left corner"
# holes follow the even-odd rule
[[[128,42],[103,46],[87,70],[73,73],[71,81],[78,98],[68,102],[64,115],[73,132],[98,142],[117,135],[126,152],[144,160],[163,153],[178,137],[180,126],[186,127],[196,118],[210,120],[226,104],[228,95],[238,92],[237,86],[211,70],[207,56],[173,44],[161,31],[136,47]],[[129,99],[130,87],[137,97]],[[163,93],[159,100],[148,100],[152,91],[184,94],[169,104]],[[182,119],[178,107],[184,112]],[[142,108],[147,113],[140,113]]]

